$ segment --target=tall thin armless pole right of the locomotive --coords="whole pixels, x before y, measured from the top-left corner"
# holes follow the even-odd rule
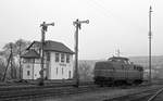
[[[150,5],[150,9],[149,9],[149,83],[150,84],[151,84],[151,37],[152,37],[151,12],[152,12],[152,7]]]

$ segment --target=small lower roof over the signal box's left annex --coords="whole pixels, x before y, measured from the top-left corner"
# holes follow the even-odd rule
[[[23,55],[21,55],[22,58],[26,58],[26,59],[38,59],[40,58],[40,55],[35,51],[35,50],[28,50],[26,53],[24,53]]]

